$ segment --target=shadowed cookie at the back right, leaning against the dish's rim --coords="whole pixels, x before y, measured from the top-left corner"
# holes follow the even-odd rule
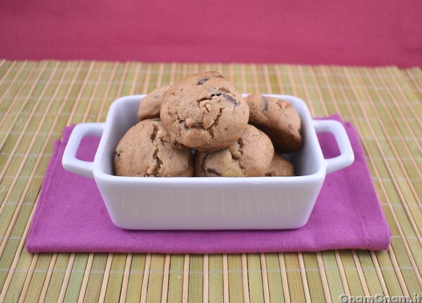
[[[250,108],[249,123],[264,131],[277,151],[299,150],[300,117],[289,102],[260,94],[249,95],[245,100]]]

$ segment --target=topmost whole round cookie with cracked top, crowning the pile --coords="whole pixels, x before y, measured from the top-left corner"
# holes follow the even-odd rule
[[[211,152],[237,141],[248,124],[249,107],[226,78],[206,72],[171,86],[164,95],[160,118],[174,147]]]

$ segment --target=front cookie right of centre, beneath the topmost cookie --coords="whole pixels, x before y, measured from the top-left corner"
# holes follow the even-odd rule
[[[262,177],[270,167],[274,147],[270,138],[247,125],[240,138],[227,148],[196,152],[195,175],[204,177]]]

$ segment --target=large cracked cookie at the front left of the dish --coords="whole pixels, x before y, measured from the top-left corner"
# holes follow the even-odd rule
[[[114,172],[131,177],[191,177],[192,151],[174,149],[160,119],[142,120],[117,145]]]

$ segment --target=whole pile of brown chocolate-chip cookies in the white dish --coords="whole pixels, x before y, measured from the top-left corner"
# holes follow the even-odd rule
[[[281,155],[302,143],[294,108],[259,94],[243,98],[217,72],[156,88],[142,99],[138,117],[116,148],[116,175],[294,175]]]

